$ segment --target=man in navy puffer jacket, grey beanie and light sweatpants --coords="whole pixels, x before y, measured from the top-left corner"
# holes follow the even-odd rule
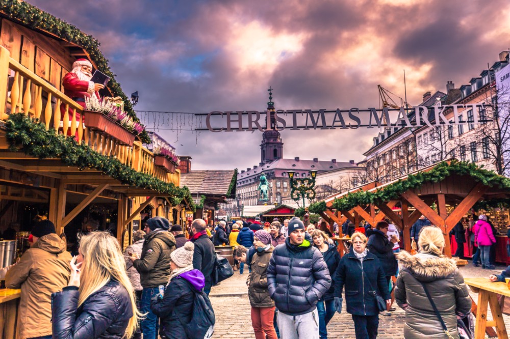
[[[275,247],[267,267],[267,288],[278,309],[278,329],[286,339],[318,338],[316,305],[331,285],[329,270],[299,218],[289,221],[287,232],[285,244]]]

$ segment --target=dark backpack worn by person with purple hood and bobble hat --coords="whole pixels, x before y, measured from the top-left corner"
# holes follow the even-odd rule
[[[186,332],[186,337],[190,339],[210,338],[213,336],[214,324],[216,322],[211,301],[207,294],[202,291],[197,291],[188,280],[184,280],[188,283],[194,294],[193,311],[191,313],[190,322],[185,323],[183,319],[178,316]]]

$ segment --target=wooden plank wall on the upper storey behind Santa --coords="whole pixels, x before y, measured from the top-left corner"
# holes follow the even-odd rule
[[[0,45],[9,50],[11,58],[63,92],[62,77],[71,70],[75,59],[69,51],[54,39],[5,18],[1,20]]]

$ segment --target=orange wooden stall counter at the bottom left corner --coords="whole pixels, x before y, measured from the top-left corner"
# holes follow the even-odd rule
[[[0,289],[0,337],[16,338],[16,319],[21,290]]]

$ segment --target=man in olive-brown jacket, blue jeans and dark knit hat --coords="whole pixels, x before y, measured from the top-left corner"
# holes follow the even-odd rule
[[[163,217],[147,219],[140,259],[131,257],[133,267],[140,272],[143,287],[140,310],[146,313],[141,321],[144,339],[158,338],[158,317],[150,309],[150,299],[159,294],[159,287],[166,287],[170,279],[170,253],[175,249],[175,238],[168,232],[170,223]]]

